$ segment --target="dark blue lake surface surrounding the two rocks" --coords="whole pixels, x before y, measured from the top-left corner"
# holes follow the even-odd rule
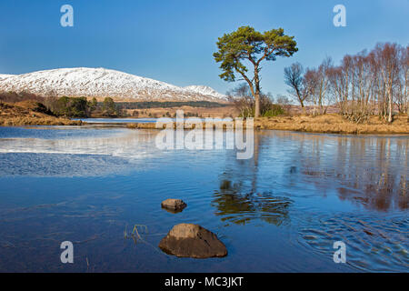
[[[407,136],[260,131],[237,160],[158,150],[157,133],[0,127],[0,271],[409,271]],[[188,206],[169,213],[169,197]],[[213,231],[228,256],[164,254],[178,223]],[[74,264],[60,262],[65,240]],[[333,261],[339,240],[346,264]]]

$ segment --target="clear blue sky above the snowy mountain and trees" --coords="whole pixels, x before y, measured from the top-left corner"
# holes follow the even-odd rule
[[[60,7],[74,7],[74,27],[60,25]],[[346,27],[333,25],[333,7],[346,7]],[[283,27],[299,51],[264,63],[262,88],[285,94],[284,67],[335,64],[378,42],[409,44],[409,0],[2,0],[0,74],[57,67],[105,67],[174,85],[235,84],[218,75],[217,37],[241,25]]]

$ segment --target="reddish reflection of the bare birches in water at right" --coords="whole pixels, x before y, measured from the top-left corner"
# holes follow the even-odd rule
[[[300,151],[302,174],[314,177],[312,182],[323,190],[328,187],[328,181],[334,180],[342,185],[337,188],[341,199],[381,211],[409,208],[408,139],[325,135],[294,137],[310,145],[307,151]]]

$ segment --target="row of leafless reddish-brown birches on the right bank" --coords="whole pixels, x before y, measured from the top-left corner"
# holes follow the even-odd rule
[[[284,69],[284,80],[301,107],[314,105],[314,115],[336,105],[341,115],[356,123],[370,115],[391,123],[396,112],[409,117],[408,74],[409,46],[384,43],[369,52],[344,55],[340,65],[330,57],[317,68],[294,63]]]

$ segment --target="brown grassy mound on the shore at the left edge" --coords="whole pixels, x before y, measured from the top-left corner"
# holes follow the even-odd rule
[[[0,125],[82,125],[80,120],[55,117],[36,111],[36,103],[23,101],[14,105],[0,103]]]

